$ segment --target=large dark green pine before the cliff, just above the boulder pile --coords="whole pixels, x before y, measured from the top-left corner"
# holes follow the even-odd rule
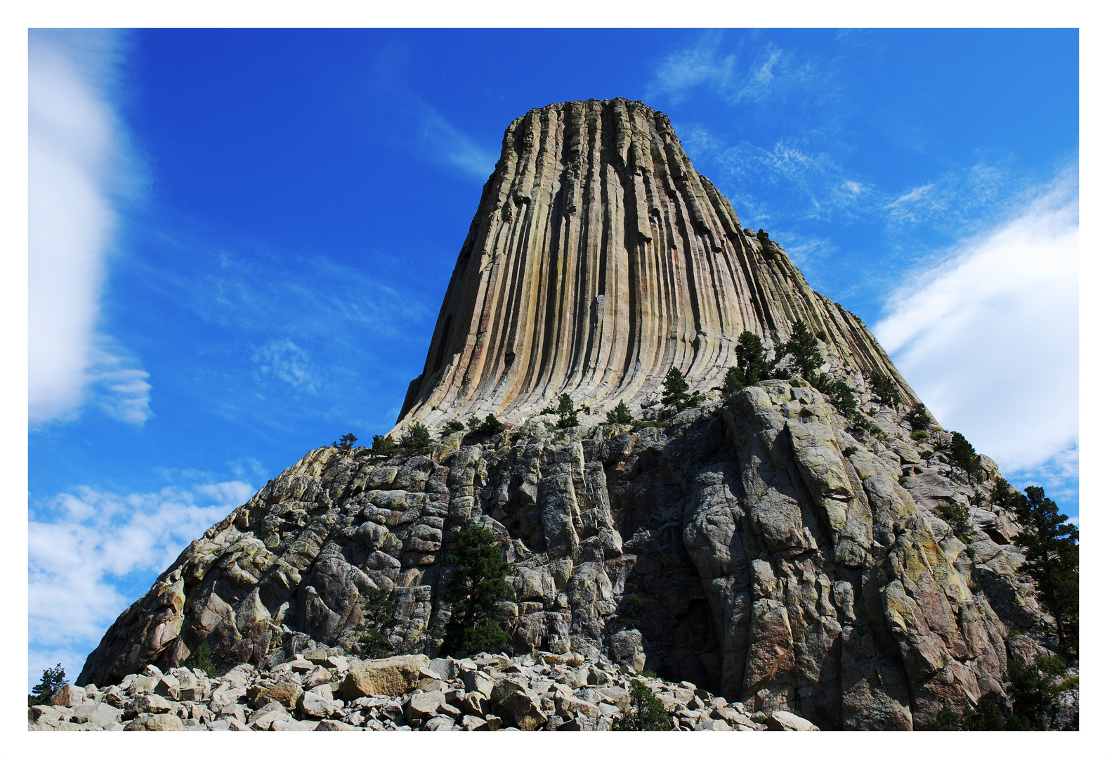
[[[509,571],[490,531],[469,527],[457,537],[457,553],[447,560],[457,570],[449,579],[446,601],[453,604],[446,636],[445,653],[458,650],[501,652],[507,646],[507,633],[499,625],[501,611],[496,606],[511,597],[514,591],[505,577]]]

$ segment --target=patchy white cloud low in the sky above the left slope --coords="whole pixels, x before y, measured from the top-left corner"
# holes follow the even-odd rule
[[[33,506],[29,678],[58,661],[75,677],[136,594],[254,491],[239,480],[130,494],[82,486]]]

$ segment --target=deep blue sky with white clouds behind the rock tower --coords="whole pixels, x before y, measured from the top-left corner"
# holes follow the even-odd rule
[[[1077,34],[30,35],[29,678],[308,450],[395,421],[504,129],[668,113],[949,429],[1077,515]]]

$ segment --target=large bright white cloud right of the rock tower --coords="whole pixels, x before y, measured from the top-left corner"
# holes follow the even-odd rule
[[[1022,479],[1075,475],[1076,194],[1062,172],[896,291],[873,329],[939,422]]]

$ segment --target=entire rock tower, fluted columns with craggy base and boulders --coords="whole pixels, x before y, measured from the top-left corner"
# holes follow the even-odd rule
[[[780,361],[796,321],[856,409]],[[779,372],[723,392],[743,331]],[[661,403],[673,367],[699,406]],[[576,427],[544,413],[561,393],[589,407]],[[635,421],[607,420],[620,401]],[[944,707],[1006,702],[1008,656],[1056,650],[1054,620],[995,463],[955,465],[919,401],[856,316],[741,226],[666,116],[619,99],[532,110],[505,132],[397,420],[431,444],[308,452],[195,540],[77,683],[153,688],[132,675],[208,649],[223,680],[186,689],[227,720],[261,724],[283,688],[302,720],[445,729],[610,729],[612,684],[643,670],[664,676],[680,729],[789,712],[925,729]],[[446,427],[486,414],[506,429]],[[360,689],[368,665],[343,652],[380,592],[390,652],[448,653],[447,560],[474,526],[510,563],[516,659],[415,667],[408,691],[446,690],[437,711]]]

